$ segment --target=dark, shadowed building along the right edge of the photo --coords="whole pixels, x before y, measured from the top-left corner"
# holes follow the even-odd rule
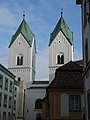
[[[84,88],[85,88],[85,114],[90,119],[90,0],[76,0],[81,5],[82,14],[82,43],[84,59]]]

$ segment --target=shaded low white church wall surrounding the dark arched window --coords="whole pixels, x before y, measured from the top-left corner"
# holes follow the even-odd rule
[[[39,86],[39,85],[38,85]],[[46,89],[28,89],[26,94],[27,109],[26,120],[36,120],[37,113],[42,113],[42,110],[35,110],[35,101],[45,97]]]

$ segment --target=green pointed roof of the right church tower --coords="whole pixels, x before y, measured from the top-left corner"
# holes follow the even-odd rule
[[[65,35],[65,37],[68,39],[70,44],[73,44],[73,32],[70,31],[69,27],[67,26],[64,18],[61,15],[61,18],[59,19],[55,29],[53,32],[50,34],[50,41],[49,41],[49,46],[53,42],[54,38],[57,36],[59,31],[62,31],[62,33]]]

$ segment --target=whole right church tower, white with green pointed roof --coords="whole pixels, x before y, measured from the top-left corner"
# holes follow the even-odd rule
[[[61,12],[49,41],[49,82],[55,77],[55,70],[73,60],[73,33],[67,26]]]

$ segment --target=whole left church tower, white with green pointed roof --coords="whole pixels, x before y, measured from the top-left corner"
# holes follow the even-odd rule
[[[23,15],[23,20],[9,44],[9,70],[17,80],[26,84],[35,80],[36,44],[35,35],[30,30]]]

